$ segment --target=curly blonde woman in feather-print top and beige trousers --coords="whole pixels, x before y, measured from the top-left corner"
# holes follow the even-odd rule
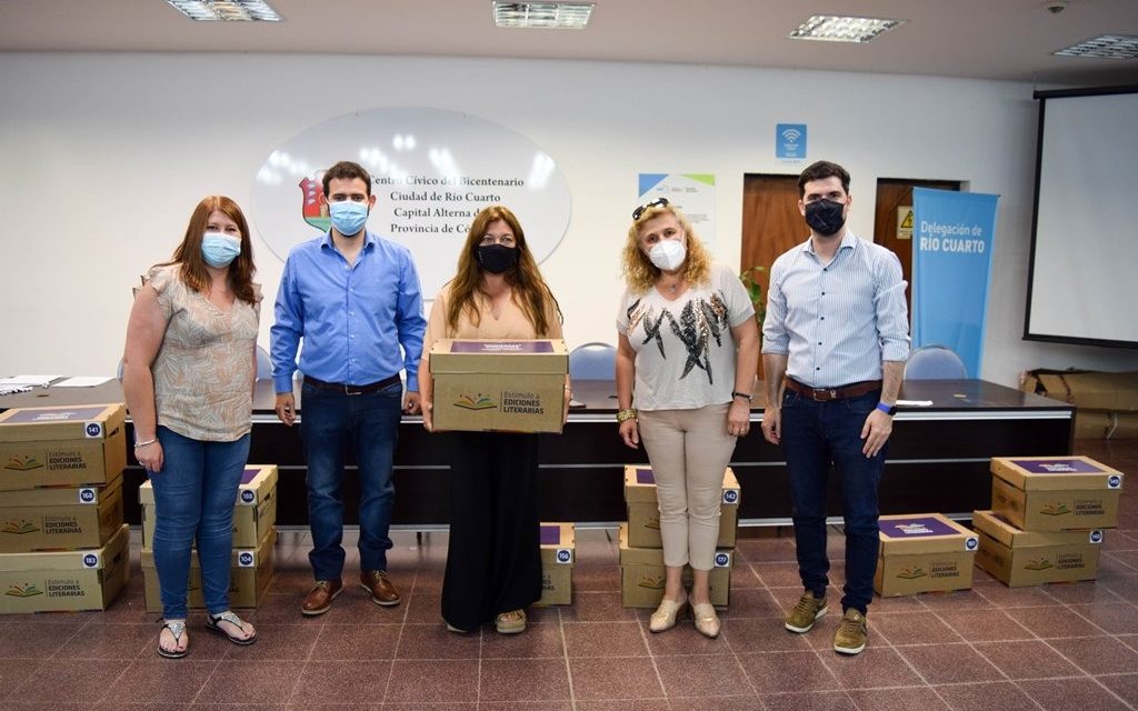
[[[653,633],[691,602],[695,628],[719,635],[709,573],[719,534],[723,472],[750,429],[759,358],[754,307],[728,268],[714,264],[668,200],[637,207],[624,248],[627,289],[617,314],[617,421],[641,440],[655,477],[666,582]],[[692,568],[691,594],[684,590]]]

